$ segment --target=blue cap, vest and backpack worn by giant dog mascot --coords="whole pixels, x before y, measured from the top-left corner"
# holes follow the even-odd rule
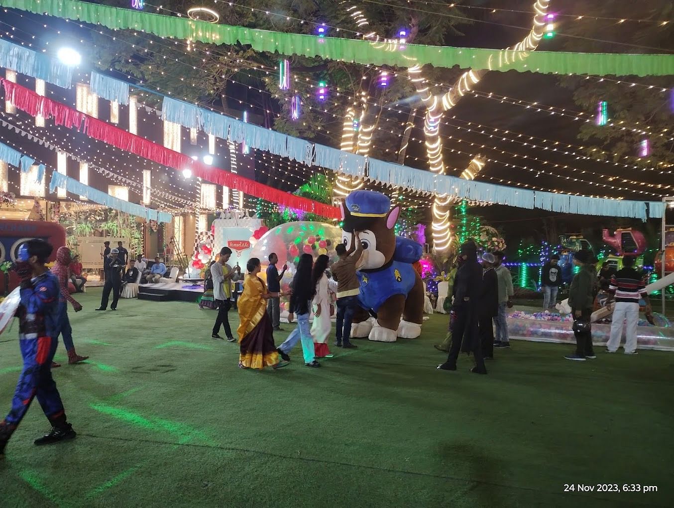
[[[391,208],[389,198],[373,192],[353,192],[346,197],[344,204],[350,213],[365,220],[386,217]],[[408,295],[416,281],[412,263],[419,261],[422,253],[419,243],[396,236],[396,250],[390,262],[379,269],[357,272],[361,307],[377,312],[393,295]]]

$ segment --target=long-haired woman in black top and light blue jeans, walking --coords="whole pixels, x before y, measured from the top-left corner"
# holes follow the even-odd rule
[[[290,287],[293,288],[293,294],[290,295],[290,316],[288,320],[293,320],[293,314],[297,314],[297,328],[293,330],[284,343],[278,346],[278,354],[283,360],[290,360],[290,350],[295,347],[298,341],[302,341],[302,351],[304,354],[304,363],[307,367],[320,367],[315,359],[313,349],[313,337],[311,337],[311,327],[309,326],[309,312],[311,312],[311,300],[316,294],[316,285],[312,282],[311,267],[313,266],[313,256],[311,254],[302,254],[297,263],[297,271]]]

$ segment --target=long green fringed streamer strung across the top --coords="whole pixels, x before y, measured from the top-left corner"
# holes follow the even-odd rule
[[[255,51],[303,55],[366,65],[431,64],[435,67],[490,69],[543,74],[594,74],[597,76],[669,76],[674,55],[623,53],[565,53],[561,51],[499,51],[408,44],[372,43],[350,38],[319,38],[162,16],[135,9],[120,9],[76,0],[0,0],[3,7],[100,24],[113,29],[143,30],[161,37],[198,40],[216,45],[250,45]],[[526,57],[526,58],[525,58]]]

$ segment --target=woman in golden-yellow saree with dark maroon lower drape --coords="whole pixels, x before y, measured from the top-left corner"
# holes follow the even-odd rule
[[[243,293],[239,296],[239,367],[262,369],[284,367],[288,362],[278,361],[274,345],[272,320],[267,314],[267,300],[284,293],[269,293],[265,283],[257,277],[259,259],[251,258],[246,265],[247,275],[243,281]]]

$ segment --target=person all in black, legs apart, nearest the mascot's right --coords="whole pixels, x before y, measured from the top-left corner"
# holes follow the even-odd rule
[[[470,241],[460,248],[463,262],[454,280],[452,320],[452,346],[447,361],[437,366],[441,370],[456,370],[459,351],[474,355],[475,366],[470,372],[487,374],[479,336],[479,304],[482,293],[482,266],[477,262],[477,246]]]

